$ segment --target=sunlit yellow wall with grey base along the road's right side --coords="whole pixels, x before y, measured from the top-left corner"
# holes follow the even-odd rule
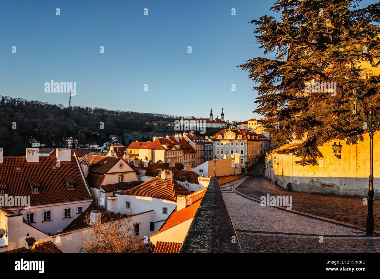
[[[339,141],[336,141],[338,144]],[[286,188],[293,183],[295,191],[331,192],[340,194],[367,195],[369,177],[369,135],[363,134],[363,141],[357,144],[342,144],[341,159],[332,153],[334,140],[319,148],[323,158],[317,158],[319,166],[300,166],[293,155],[274,153],[266,156],[266,163],[273,167],[266,169],[266,177]],[[274,156],[276,163],[274,164]],[[374,194],[380,196],[380,132],[374,135]]]

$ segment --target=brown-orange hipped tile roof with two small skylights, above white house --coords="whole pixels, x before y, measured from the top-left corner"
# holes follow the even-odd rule
[[[192,192],[174,179],[154,177],[132,189],[117,193],[117,195],[153,197],[156,199],[171,200],[175,202],[177,200],[177,195],[188,195],[191,193]]]

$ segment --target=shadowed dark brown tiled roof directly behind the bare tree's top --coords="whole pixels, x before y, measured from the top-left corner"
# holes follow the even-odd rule
[[[114,212],[106,210],[103,207],[97,206],[94,203],[91,203],[91,205],[82,214],[80,214],[76,219],[74,219],[70,224],[68,224],[67,227],[65,227],[65,229],[63,229],[63,232],[67,232],[69,230],[78,230],[78,229],[88,227],[88,225],[85,222],[86,216],[87,214],[90,214],[92,210],[98,210],[102,213],[101,214],[102,224],[128,217],[127,214],[114,213]]]

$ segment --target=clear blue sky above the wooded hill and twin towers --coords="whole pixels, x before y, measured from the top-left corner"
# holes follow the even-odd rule
[[[236,66],[263,56],[247,22],[275,16],[273,3],[4,0],[0,95],[67,106],[67,94],[44,92],[53,79],[76,82],[73,106],[199,117],[223,106],[230,121],[258,117],[254,84]]]

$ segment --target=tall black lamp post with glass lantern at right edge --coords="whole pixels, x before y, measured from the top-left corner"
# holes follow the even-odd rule
[[[363,97],[353,90],[348,99],[352,116],[357,116],[359,123],[366,123],[369,134],[369,189],[368,189],[368,213],[366,235],[374,235],[374,133],[380,128],[380,119],[374,119],[372,110],[368,112],[367,120],[359,120],[360,110],[363,104]]]

